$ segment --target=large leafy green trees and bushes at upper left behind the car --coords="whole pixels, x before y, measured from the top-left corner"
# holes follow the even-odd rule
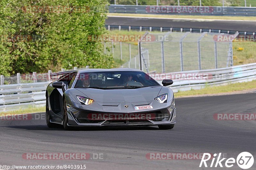
[[[0,74],[114,67],[102,42],[88,39],[107,33],[107,5],[107,0],[1,0]]]

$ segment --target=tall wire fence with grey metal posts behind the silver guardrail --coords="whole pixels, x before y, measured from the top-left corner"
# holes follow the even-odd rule
[[[148,73],[167,73],[233,66],[232,41],[223,39],[230,37],[229,34],[167,32],[147,33],[147,36],[157,41],[140,41],[139,55],[121,67],[136,65]]]

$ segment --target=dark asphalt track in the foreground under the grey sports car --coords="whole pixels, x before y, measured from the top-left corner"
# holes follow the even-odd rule
[[[256,158],[256,121],[215,120],[215,113],[255,113],[255,93],[176,99],[174,129],[157,127],[50,129],[45,120],[1,120],[0,165],[86,165],[86,169],[199,168],[200,160],[148,160],[147,153],[240,152]],[[103,153],[100,160],[27,160],[24,153]],[[210,166],[208,163],[208,166]],[[0,168],[1,169],[1,168]],[[236,164],[229,169],[241,169]],[[256,163],[251,169],[256,169]]]

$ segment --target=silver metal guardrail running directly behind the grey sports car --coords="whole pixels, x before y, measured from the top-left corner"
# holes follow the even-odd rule
[[[204,73],[208,76],[205,79],[197,79],[197,74]],[[193,70],[180,71],[167,74],[184,74],[187,77],[183,79],[174,79],[173,84],[169,86],[173,92],[198,90],[206,86],[227,85],[229,83],[247,82],[256,80],[256,63],[232,66],[228,68],[211,70]],[[192,79],[191,79],[192,78]],[[161,83],[162,80],[158,79]],[[33,106],[45,106],[45,90],[50,82],[13,84],[0,86],[0,112],[17,110]]]

